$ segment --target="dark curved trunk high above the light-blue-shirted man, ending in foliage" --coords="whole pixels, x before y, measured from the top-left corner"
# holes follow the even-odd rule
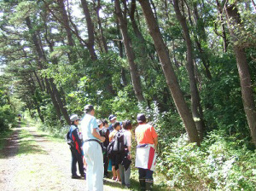
[[[87,4],[86,0],[81,0],[81,4],[82,4],[83,11],[84,11],[86,24],[87,24],[87,32],[88,32],[87,47],[90,52],[91,60],[96,61],[97,56],[96,56],[95,49],[94,49],[94,27],[93,27],[93,23],[90,18],[90,10],[88,9],[88,4]]]

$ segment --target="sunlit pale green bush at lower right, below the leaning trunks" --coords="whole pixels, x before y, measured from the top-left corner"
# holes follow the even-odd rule
[[[212,131],[201,148],[188,143],[186,135],[166,144],[158,171],[172,188],[192,190],[253,190],[256,186],[256,153],[224,130]]]

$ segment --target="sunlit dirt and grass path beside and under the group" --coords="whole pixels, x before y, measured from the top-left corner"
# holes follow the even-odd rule
[[[0,190],[84,190],[86,180],[71,178],[71,153],[63,139],[21,122],[0,148]],[[131,190],[139,183],[131,179]],[[129,190],[105,179],[104,191]],[[154,190],[166,190],[154,185]]]

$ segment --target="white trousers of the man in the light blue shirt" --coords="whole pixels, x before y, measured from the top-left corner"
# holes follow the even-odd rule
[[[87,163],[86,188],[87,191],[103,191],[103,155],[98,142],[84,142],[84,157]]]

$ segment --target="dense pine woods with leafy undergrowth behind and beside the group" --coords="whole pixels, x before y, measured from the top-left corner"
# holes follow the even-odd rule
[[[0,131],[146,113],[169,185],[255,186],[254,0],[2,0],[0,18]]]

